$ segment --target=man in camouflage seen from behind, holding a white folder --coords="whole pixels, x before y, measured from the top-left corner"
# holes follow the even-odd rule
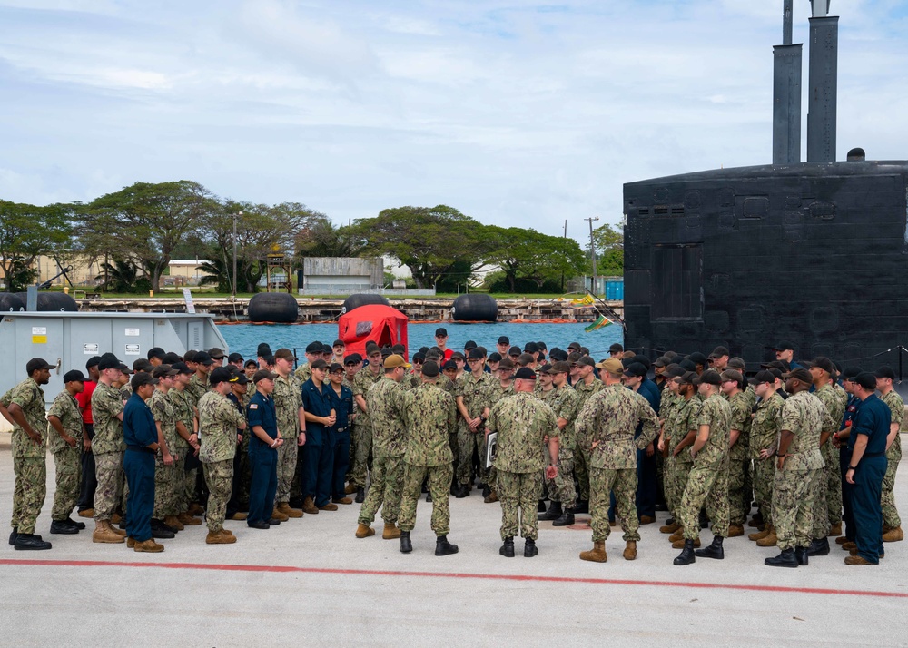
[[[533,396],[536,372],[519,368],[515,375],[513,396],[502,398],[489,412],[486,428],[497,433],[495,467],[501,501],[501,538],[498,553],[514,557],[514,536],[524,537],[523,555],[537,555],[537,504],[542,491],[539,472],[545,469],[547,479],[558,476],[558,419],[551,407]],[[548,437],[546,461],[544,445]],[[547,467],[547,463],[549,464]]]

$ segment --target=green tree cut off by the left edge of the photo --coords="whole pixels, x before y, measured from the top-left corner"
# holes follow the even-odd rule
[[[0,201],[0,270],[5,290],[15,292],[35,280],[35,259],[62,252],[72,234],[73,206],[46,207]]]

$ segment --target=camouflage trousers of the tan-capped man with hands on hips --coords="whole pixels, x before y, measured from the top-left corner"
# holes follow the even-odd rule
[[[610,492],[615,492],[615,509],[618,523],[624,529],[625,542],[640,539],[640,521],[637,518],[637,468],[589,469],[589,525],[593,529],[593,542],[605,542],[611,527],[608,525]]]

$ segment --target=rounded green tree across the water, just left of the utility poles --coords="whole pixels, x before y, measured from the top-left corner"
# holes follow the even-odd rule
[[[494,225],[486,228],[486,235],[497,245],[485,259],[504,272],[511,292],[517,292],[520,280],[532,281],[541,290],[547,281],[560,280],[562,274],[570,279],[584,267],[583,251],[573,239]]]

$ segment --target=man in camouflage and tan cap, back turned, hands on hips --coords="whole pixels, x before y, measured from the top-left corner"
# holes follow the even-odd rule
[[[589,512],[593,549],[581,560],[605,563],[608,495],[614,490],[617,517],[624,529],[626,560],[637,558],[640,522],[637,518],[637,450],[653,442],[659,419],[646,398],[621,384],[624,368],[617,358],[600,362],[605,387],[587,399],[577,415],[577,443],[589,451]],[[637,425],[642,432],[634,438]],[[636,448],[636,449],[635,449]]]

